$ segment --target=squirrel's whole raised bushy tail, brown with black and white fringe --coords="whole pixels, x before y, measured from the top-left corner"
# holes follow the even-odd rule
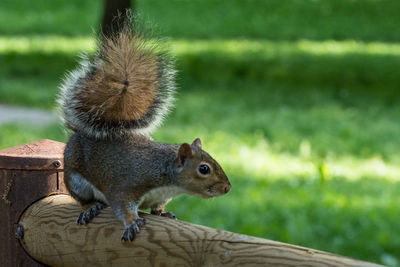
[[[174,76],[171,58],[127,24],[67,74],[58,99],[65,124],[97,138],[149,133],[172,104]]]

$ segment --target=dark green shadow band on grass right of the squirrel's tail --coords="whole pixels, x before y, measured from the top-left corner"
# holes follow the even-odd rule
[[[400,68],[400,56],[396,55],[197,52],[184,54],[178,58],[178,63],[184,81],[192,79],[188,83],[200,81],[231,86],[238,81],[274,82],[296,87],[296,90],[299,90],[297,87],[335,87],[337,90],[375,91],[377,96],[394,93],[400,96],[400,78],[395,71]]]

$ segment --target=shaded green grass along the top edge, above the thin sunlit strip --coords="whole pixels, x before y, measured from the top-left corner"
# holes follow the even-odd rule
[[[144,19],[173,38],[400,41],[396,0],[135,2]],[[89,35],[101,14],[99,1],[2,0],[0,33]]]

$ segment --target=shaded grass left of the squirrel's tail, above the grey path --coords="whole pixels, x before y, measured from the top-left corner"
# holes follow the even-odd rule
[[[63,53],[0,54],[0,101],[51,109],[58,86],[77,57]]]

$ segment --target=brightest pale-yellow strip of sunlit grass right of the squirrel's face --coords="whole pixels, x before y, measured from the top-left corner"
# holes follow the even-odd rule
[[[266,174],[279,179],[311,177],[321,180],[333,177],[357,180],[372,176],[377,179],[400,181],[400,167],[385,162],[380,157],[358,158],[352,155],[327,159],[303,157],[299,154],[272,151],[262,139],[256,147],[237,142],[234,144],[237,147],[231,147],[228,154],[221,151],[219,156],[231,167],[240,166],[244,173],[252,178],[262,179]]]

